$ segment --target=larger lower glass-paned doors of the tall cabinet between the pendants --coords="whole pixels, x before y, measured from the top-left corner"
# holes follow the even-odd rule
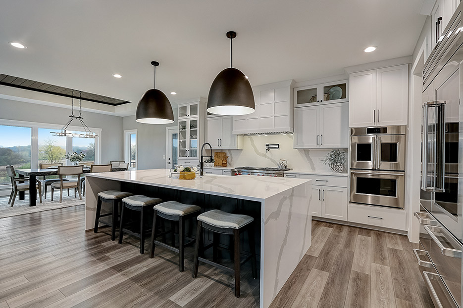
[[[199,118],[178,122],[178,157],[198,158]]]

